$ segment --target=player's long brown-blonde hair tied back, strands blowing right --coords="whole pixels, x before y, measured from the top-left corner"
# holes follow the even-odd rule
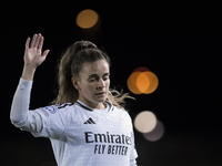
[[[79,77],[84,63],[105,60],[111,65],[110,58],[90,41],[78,41],[67,49],[59,63],[58,84],[59,94],[52,104],[75,103],[79,98],[79,92],[74,89],[71,79]],[[109,90],[108,101],[114,106],[124,110],[124,100],[133,98],[128,93]]]

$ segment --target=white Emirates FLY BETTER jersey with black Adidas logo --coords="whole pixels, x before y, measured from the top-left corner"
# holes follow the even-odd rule
[[[28,120],[36,128],[24,122],[14,125],[36,137],[49,137],[59,166],[135,165],[131,118],[125,111],[105,103],[105,110],[91,108],[80,101],[41,107],[29,112]]]

